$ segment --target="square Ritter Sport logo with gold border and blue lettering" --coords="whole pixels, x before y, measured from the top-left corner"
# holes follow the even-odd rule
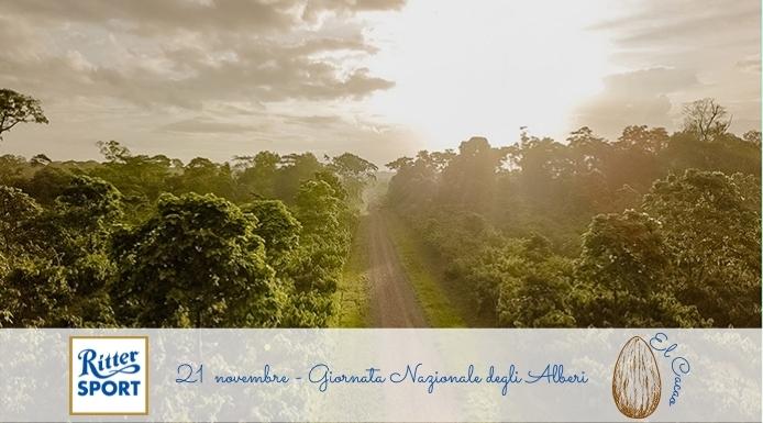
[[[69,414],[148,414],[148,337],[70,336]]]

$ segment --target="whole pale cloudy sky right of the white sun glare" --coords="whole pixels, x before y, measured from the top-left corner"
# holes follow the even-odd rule
[[[760,124],[760,1],[621,5],[588,30],[606,35],[610,62],[630,71],[607,77],[601,92],[580,102],[574,122],[608,136],[631,124],[675,130],[683,103],[711,97],[744,124],[733,131]]]

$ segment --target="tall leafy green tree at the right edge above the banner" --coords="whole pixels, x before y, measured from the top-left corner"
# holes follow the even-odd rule
[[[644,199],[671,247],[678,298],[715,325],[760,325],[760,198],[752,176],[690,169],[655,182]]]

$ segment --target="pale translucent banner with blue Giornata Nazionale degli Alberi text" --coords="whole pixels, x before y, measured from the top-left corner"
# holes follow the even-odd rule
[[[0,357],[3,422],[761,416],[760,330],[3,330]]]

